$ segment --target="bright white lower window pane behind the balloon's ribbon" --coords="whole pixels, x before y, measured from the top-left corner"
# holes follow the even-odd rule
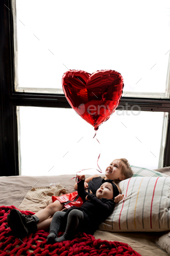
[[[125,157],[131,165],[158,168],[164,113],[116,110],[95,131],[72,109],[18,107],[21,175],[75,174],[106,169]],[[86,173],[97,173],[87,170]]]

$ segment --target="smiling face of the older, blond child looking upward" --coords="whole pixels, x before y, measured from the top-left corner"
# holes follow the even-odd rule
[[[113,181],[123,181],[123,179],[125,179],[125,176],[122,174],[122,165],[119,159],[115,159],[111,162],[105,171],[105,176],[107,179],[112,179]]]

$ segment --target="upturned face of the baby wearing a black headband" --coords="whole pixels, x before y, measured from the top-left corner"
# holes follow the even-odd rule
[[[104,184],[99,187],[96,191],[96,197],[98,199],[100,198],[107,198],[107,199],[112,199],[113,198],[113,187],[112,184],[109,182],[104,182]]]

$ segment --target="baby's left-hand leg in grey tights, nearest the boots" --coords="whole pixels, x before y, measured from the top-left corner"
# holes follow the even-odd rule
[[[61,226],[63,227],[63,230],[65,229],[66,224],[63,223],[65,214],[66,212],[63,211],[55,212],[50,224],[50,234],[47,236],[47,244],[53,244],[55,242],[55,238],[58,236]]]

